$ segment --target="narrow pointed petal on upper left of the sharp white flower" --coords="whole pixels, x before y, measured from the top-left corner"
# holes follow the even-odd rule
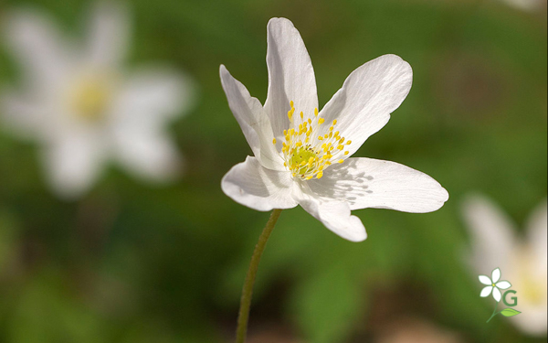
[[[260,102],[249,95],[246,86],[234,79],[225,66],[221,65],[219,71],[230,110],[246,136],[253,155],[262,166],[273,170],[286,170],[276,146],[272,144],[274,134],[269,117],[263,112]]]

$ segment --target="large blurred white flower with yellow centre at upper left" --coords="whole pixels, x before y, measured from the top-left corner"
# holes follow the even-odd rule
[[[5,123],[40,143],[47,180],[59,195],[81,195],[109,159],[152,181],[176,175],[180,159],[164,126],[189,104],[190,87],[173,70],[123,69],[125,7],[94,6],[81,45],[36,11],[3,19],[26,86],[0,99]]]

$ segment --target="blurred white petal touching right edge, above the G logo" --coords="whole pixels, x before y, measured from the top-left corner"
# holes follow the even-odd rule
[[[532,252],[532,256],[536,260],[534,267],[535,273],[542,275],[546,273],[548,266],[548,205],[546,200],[543,201],[536,209],[533,210],[527,225],[527,244],[528,249]]]

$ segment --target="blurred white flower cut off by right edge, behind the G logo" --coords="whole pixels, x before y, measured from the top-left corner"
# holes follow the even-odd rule
[[[516,237],[511,220],[488,198],[470,196],[464,203],[475,273],[501,267],[518,297],[520,316],[511,322],[530,335],[545,335],[548,319],[547,204],[533,210],[525,239]],[[493,279],[494,279],[493,275]],[[494,281],[494,280],[492,280]],[[487,291],[486,291],[487,292]]]

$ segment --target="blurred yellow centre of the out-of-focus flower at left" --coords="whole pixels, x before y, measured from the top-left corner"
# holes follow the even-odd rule
[[[69,91],[70,109],[80,119],[99,122],[111,103],[111,91],[108,78],[97,75],[83,77]]]

